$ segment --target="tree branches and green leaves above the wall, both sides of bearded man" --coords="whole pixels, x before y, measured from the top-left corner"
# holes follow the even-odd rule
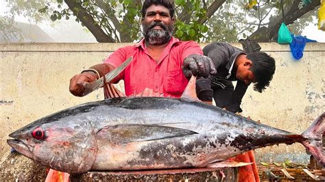
[[[143,35],[143,0],[5,1],[10,5],[11,14],[32,17],[36,23],[73,18],[87,27],[98,42],[137,42]],[[300,34],[316,16],[315,7],[320,3],[318,0],[311,1],[312,5],[302,5],[300,0],[283,0],[283,3],[275,0],[172,2],[176,8],[174,35],[181,40],[199,42],[236,42],[240,38],[271,41],[276,38],[282,21],[291,32]]]

